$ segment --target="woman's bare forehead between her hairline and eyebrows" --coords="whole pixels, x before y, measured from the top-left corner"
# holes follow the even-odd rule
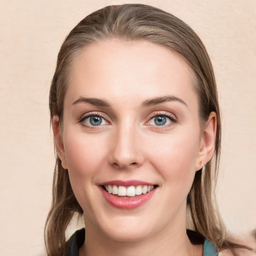
[[[193,91],[193,71],[178,53],[147,41],[93,43],[73,60],[66,94],[124,98],[184,97]]]

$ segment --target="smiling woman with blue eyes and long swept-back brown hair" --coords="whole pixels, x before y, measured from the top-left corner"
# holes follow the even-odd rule
[[[226,238],[214,201],[216,84],[183,21],[142,4],[91,13],[60,48],[49,107],[57,155],[48,255],[245,249]],[[81,229],[66,242],[76,212],[86,235]]]

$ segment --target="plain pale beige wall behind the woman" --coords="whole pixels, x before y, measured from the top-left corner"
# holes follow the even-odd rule
[[[54,165],[48,92],[64,36],[122,0],[0,0],[0,255],[39,255]],[[256,228],[256,1],[144,0],[187,22],[212,59],[223,115],[217,188],[229,229]]]

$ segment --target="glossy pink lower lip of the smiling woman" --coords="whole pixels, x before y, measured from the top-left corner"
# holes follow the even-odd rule
[[[106,201],[109,202],[112,206],[119,209],[135,209],[147,202],[154,194],[156,188],[145,194],[135,195],[134,197],[132,196],[130,198],[118,197],[110,194],[104,190],[102,186],[100,186],[100,189]]]

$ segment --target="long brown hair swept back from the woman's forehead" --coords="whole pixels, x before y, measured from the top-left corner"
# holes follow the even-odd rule
[[[87,45],[106,38],[124,41],[146,40],[178,52],[192,68],[199,101],[199,118],[205,122],[211,111],[217,116],[215,152],[205,168],[196,172],[187,196],[187,216],[191,227],[211,241],[218,250],[241,247],[228,241],[214,195],[220,152],[220,111],[214,73],[209,56],[199,37],[182,20],[161,9],[143,4],[111,5],[82,19],[65,38],[57,57],[51,82],[49,108],[63,115],[63,100],[73,59]],[[214,182],[212,182],[214,181]],[[53,199],[45,224],[47,255],[64,254],[65,230],[73,214],[82,209],[73,194],[68,173],[56,155]]]

